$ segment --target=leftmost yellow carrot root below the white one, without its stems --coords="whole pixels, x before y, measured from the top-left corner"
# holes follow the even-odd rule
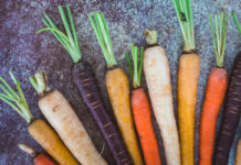
[[[31,136],[60,164],[78,165],[71,152],[53,129],[42,119],[34,120],[28,128]]]

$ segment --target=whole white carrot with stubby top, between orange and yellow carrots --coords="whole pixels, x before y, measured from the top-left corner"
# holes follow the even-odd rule
[[[157,44],[157,32],[145,32],[144,73],[148,92],[164,141],[168,165],[180,165],[180,146],[174,114],[170,70],[166,53]]]

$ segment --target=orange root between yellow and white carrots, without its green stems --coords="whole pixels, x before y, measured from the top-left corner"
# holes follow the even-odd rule
[[[157,140],[151,123],[150,106],[143,88],[132,91],[132,108],[146,165],[160,165]]]

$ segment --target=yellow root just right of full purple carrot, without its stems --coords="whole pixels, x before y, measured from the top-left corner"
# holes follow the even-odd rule
[[[142,165],[143,160],[134,129],[129,102],[129,82],[122,68],[106,73],[106,88],[124,142],[135,165]]]

